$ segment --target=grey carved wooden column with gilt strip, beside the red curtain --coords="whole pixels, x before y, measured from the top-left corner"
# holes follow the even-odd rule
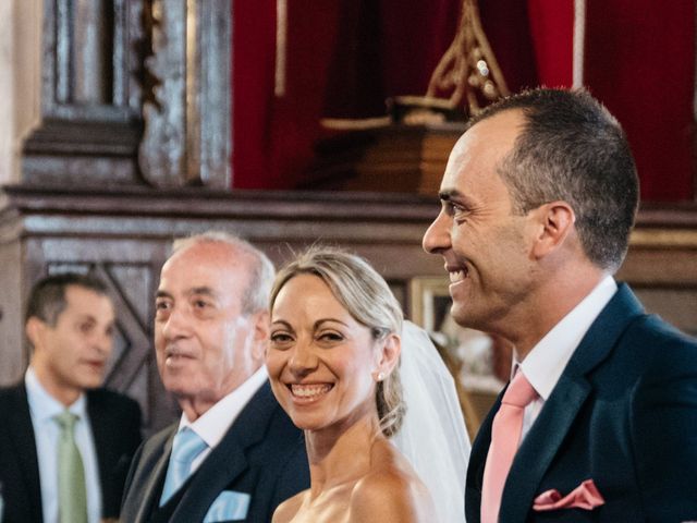
[[[148,74],[139,151],[152,185],[231,185],[231,7],[229,0],[151,0]]]

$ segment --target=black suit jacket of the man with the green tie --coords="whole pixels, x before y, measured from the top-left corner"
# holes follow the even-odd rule
[[[118,518],[131,459],[140,445],[140,409],[107,389],[87,391],[95,438],[102,515]],[[24,382],[0,389],[0,483],[3,523],[41,523],[41,487],[34,427]]]

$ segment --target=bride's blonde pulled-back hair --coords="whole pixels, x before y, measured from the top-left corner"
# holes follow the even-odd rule
[[[271,309],[283,285],[305,273],[320,278],[348,314],[370,329],[375,340],[402,333],[402,307],[384,279],[360,256],[337,247],[313,246],[283,267],[271,289]],[[393,436],[405,412],[399,366],[378,381],[376,405],[382,434]]]

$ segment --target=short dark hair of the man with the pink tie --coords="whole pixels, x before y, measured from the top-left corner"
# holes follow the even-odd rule
[[[566,202],[588,259],[614,272],[624,260],[639,199],[636,166],[622,126],[585,89],[547,88],[489,106],[469,126],[513,109],[522,111],[525,123],[498,172],[516,211]]]

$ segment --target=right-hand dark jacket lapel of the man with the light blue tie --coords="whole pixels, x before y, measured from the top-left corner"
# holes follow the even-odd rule
[[[271,387],[266,381],[200,465],[172,522],[203,521],[220,492],[248,470],[246,451],[264,439],[276,408]]]

